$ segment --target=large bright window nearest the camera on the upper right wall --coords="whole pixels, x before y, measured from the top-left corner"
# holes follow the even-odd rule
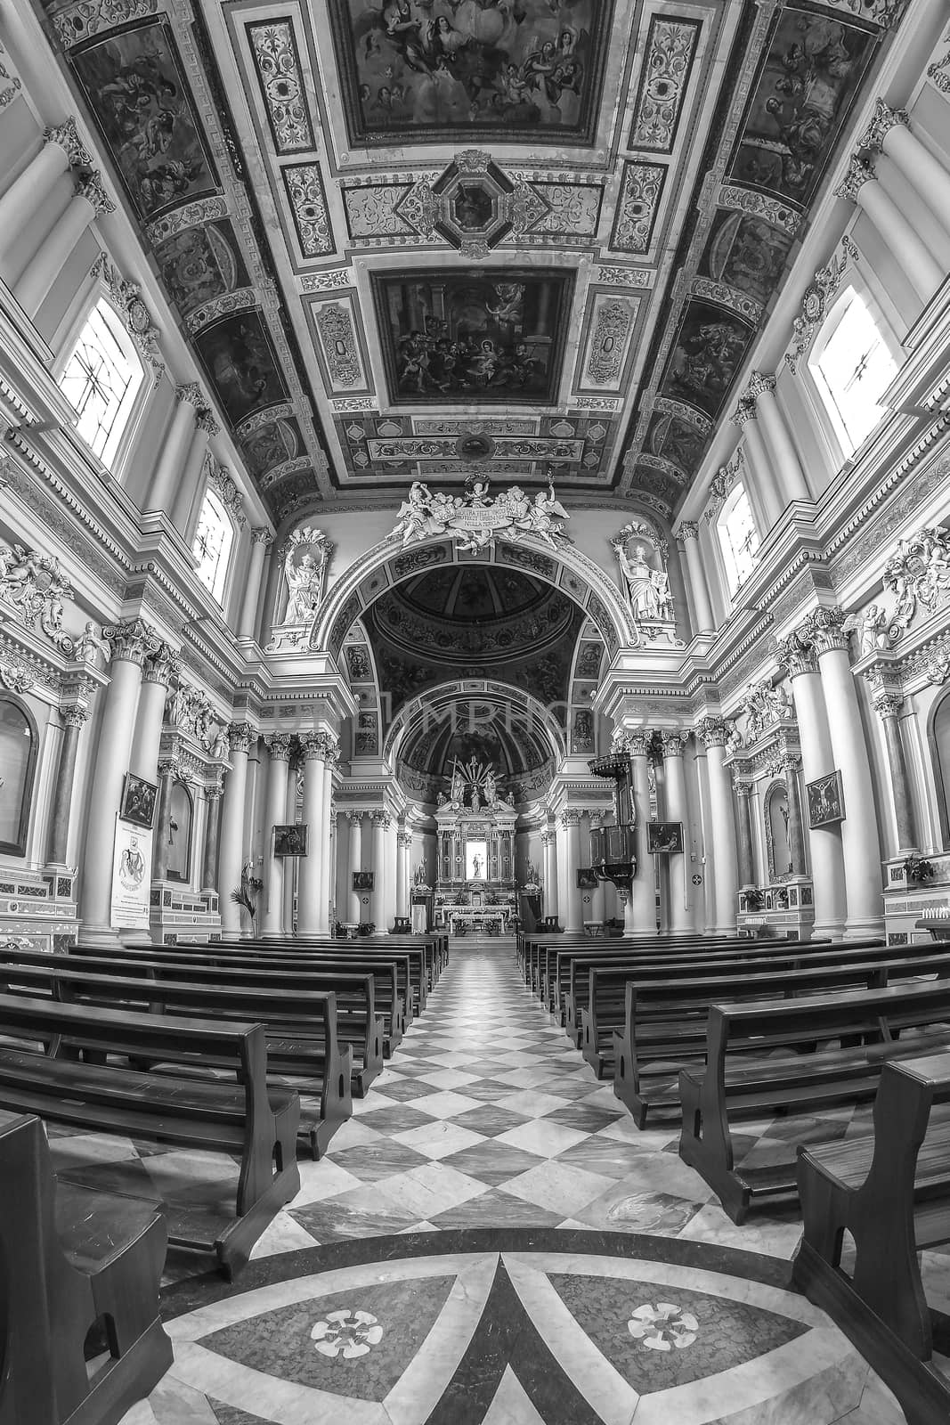
[[[877,402],[897,373],[883,322],[856,288],[842,294],[829,312],[808,365],[842,449],[850,455],[883,416]]]

